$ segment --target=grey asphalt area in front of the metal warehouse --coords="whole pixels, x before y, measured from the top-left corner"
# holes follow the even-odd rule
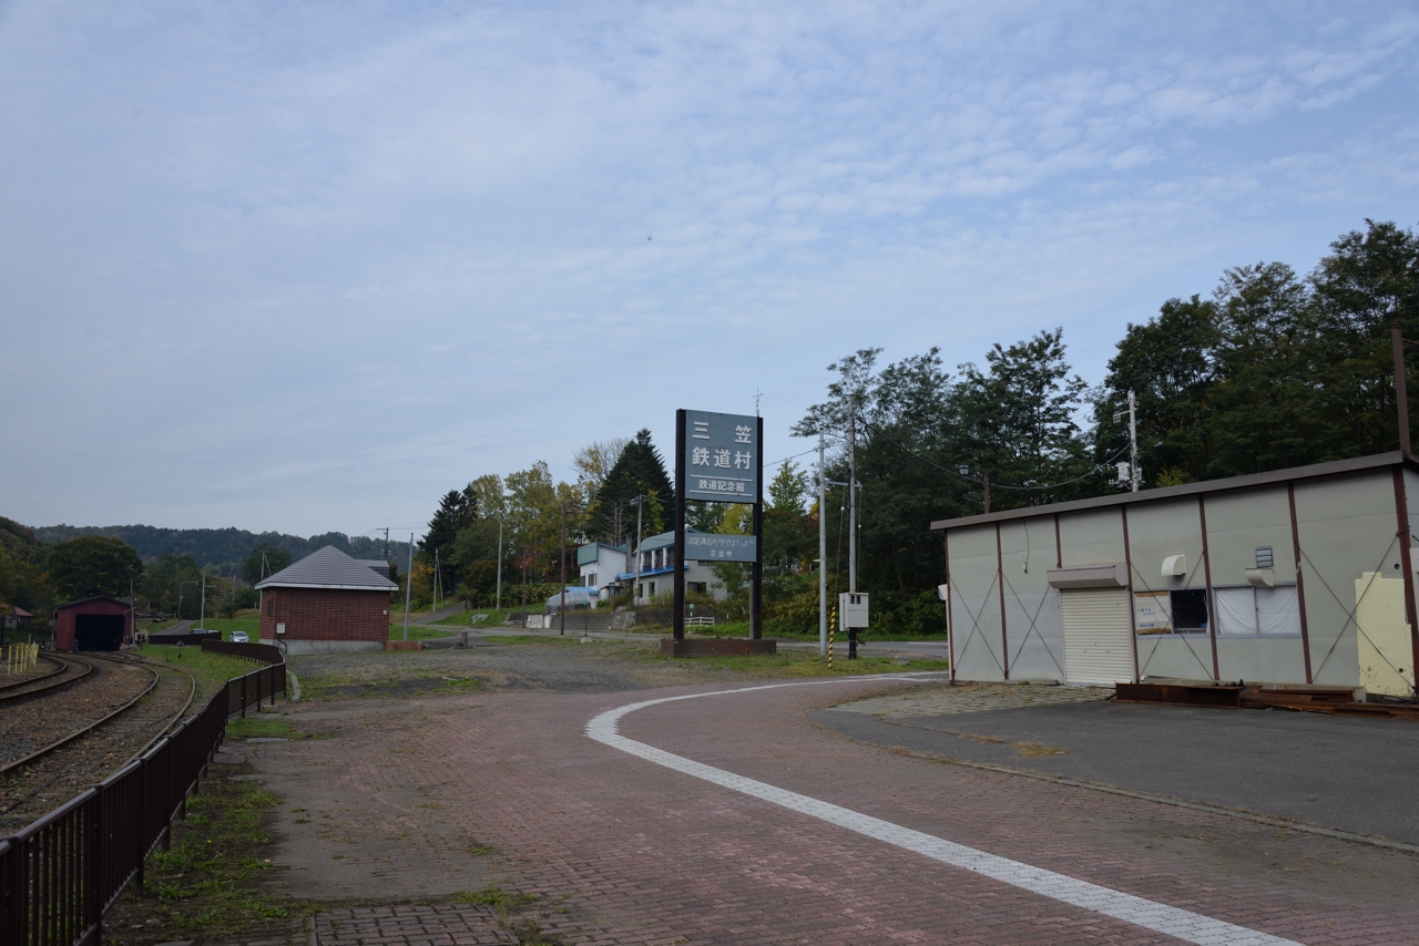
[[[878,746],[1419,844],[1419,723],[1114,702],[813,722]],[[1063,750],[1067,755],[1040,755]]]

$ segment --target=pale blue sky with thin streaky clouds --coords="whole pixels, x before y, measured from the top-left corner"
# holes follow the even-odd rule
[[[1415,3],[0,0],[0,515],[421,529],[1419,224]],[[805,457],[802,460],[810,460]]]

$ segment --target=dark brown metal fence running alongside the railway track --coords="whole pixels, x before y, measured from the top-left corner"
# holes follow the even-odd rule
[[[265,665],[227,681],[196,716],[139,759],[0,838],[0,943],[78,946],[102,942],[104,911],[159,844],[221,745],[227,720],[285,692],[285,661],[274,647],[217,644],[221,652]],[[216,650],[213,641],[204,650]],[[227,648],[244,648],[230,651]],[[267,661],[267,651],[278,662]]]

